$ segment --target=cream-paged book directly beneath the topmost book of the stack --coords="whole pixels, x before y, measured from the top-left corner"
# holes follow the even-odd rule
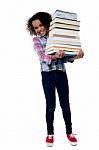
[[[69,20],[69,19],[64,19],[64,18],[54,18],[51,22],[50,22],[50,26],[54,23],[65,23],[65,24],[71,24],[71,25],[77,25],[80,26],[80,21],[78,20]]]

